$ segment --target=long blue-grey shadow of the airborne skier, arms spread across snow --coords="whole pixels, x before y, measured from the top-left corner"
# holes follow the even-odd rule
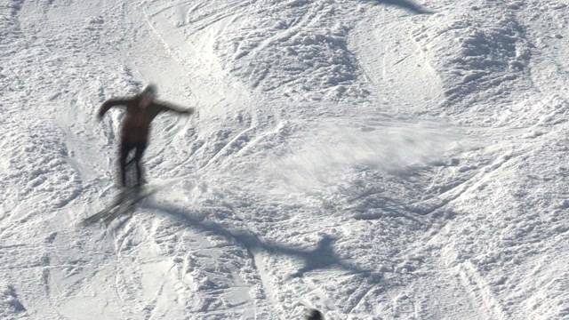
[[[164,202],[156,203],[153,201],[149,202],[145,207],[183,221],[190,228],[195,228],[205,232],[212,232],[215,235],[228,238],[229,241],[236,241],[237,243],[244,245],[251,255],[253,255],[254,252],[266,251],[302,260],[303,267],[289,277],[300,277],[309,271],[335,267],[341,268],[352,274],[359,274],[361,276],[371,277],[372,279],[381,279],[381,275],[373,273],[371,270],[359,268],[345,260],[341,260],[333,250],[333,242],[335,239],[331,236],[324,236],[320,239],[315,249],[296,249],[292,246],[263,241],[258,236],[249,232],[224,228],[219,223],[204,220],[203,214],[189,212],[188,210],[174,204],[164,204]]]

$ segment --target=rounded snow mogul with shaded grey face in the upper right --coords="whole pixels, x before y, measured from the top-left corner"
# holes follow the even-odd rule
[[[508,99],[520,86],[528,85],[524,76],[530,46],[513,15],[493,13],[492,8],[437,13],[413,31],[413,38],[441,76],[443,105],[451,114],[487,115],[493,110],[480,110],[477,102]]]

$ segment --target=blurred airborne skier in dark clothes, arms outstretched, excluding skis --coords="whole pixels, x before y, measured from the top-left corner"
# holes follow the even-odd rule
[[[126,162],[129,153],[134,150],[132,161],[136,165],[136,187],[142,185],[142,167],[140,159],[148,145],[148,135],[150,133],[150,123],[163,111],[173,111],[180,115],[191,115],[194,108],[181,109],[170,103],[156,100],[156,85],[148,84],[142,92],[132,97],[111,98],[100,106],[97,117],[99,121],[109,108],[122,106],[126,111],[124,116],[121,142],[119,147],[119,172],[120,182],[126,188]],[[131,161],[131,162],[132,162]]]

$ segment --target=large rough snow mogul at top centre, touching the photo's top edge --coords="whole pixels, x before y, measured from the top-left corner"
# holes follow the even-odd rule
[[[271,1],[237,19],[216,47],[229,72],[293,100],[362,98],[361,71],[347,48],[355,4]],[[267,10],[267,8],[269,8]]]

